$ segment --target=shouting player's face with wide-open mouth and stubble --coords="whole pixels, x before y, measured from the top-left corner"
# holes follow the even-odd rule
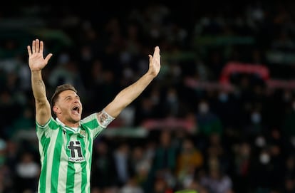
[[[73,90],[64,90],[59,94],[56,105],[59,107],[63,120],[78,122],[81,120],[82,103]]]

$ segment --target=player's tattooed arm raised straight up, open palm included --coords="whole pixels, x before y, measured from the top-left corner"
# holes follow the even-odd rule
[[[52,53],[43,58],[43,41],[33,40],[32,46],[27,46],[29,67],[31,70],[31,86],[36,103],[36,121],[44,125],[51,118],[51,107],[46,97],[46,87],[42,79],[42,69],[46,66]]]

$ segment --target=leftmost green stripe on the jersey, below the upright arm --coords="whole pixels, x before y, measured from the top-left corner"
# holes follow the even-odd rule
[[[40,140],[41,147],[40,148],[43,150],[43,152],[47,152],[48,145],[46,145],[46,144],[49,144],[49,142],[50,142],[50,138],[46,138],[45,135],[43,135],[41,137],[41,140]],[[41,161],[42,168],[41,168],[41,174],[39,177],[39,191],[46,193],[47,154],[45,154],[44,156],[45,157],[43,157],[43,159]]]

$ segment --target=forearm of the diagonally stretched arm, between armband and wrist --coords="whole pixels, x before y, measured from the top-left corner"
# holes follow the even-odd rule
[[[143,93],[143,90],[148,87],[154,78],[155,75],[151,75],[150,73],[143,75],[135,83],[121,90],[115,96],[115,99],[105,108],[105,111],[114,118],[117,117],[125,107],[130,105],[133,100]]]

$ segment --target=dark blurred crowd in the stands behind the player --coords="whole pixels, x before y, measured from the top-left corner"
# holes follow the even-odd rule
[[[48,97],[73,84],[84,116],[145,73],[160,46],[159,76],[107,129],[147,134],[98,136],[93,193],[294,193],[294,3],[214,4],[1,7],[0,192],[36,192],[26,46],[39,38],[53,53],[43,70]],[[224,85],[229,62],[264,66],[269,77],[232,73]]]

